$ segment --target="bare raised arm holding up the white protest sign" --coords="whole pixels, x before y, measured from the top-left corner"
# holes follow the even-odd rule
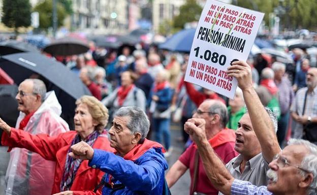
[[[251,68],[243,61],[236,61],[228,67],[228,76],[233,76],[241,88],[245,105],[250,115],[253,130],[255,131],[262,149],[264,159],[270,163],[275,154],[280,152],[275,128],[269,114],[264,109],[259,96],[252,86]]]

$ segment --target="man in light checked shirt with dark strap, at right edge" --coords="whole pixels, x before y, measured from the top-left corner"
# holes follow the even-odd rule
[[[291,106],[292,118],[296,121],[294,137],[317,144],[317,132],[303,131],[303,127],[317,126],[317,68],[310,68],[306,75],[307,87],[298,90]],[[316,129],[316,128],[315,128]]]

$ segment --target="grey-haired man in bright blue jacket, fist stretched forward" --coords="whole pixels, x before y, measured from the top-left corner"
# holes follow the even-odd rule
[[[168,168],[163,146],[145,139],[150,122],[136,106],[121,107],[109,130],[116,154],[80,142],[71,147],[71,157],[89,160],[89,166],[106,172],[103,194],[163,194]],[[97,187],[98,188],[98,187]]]

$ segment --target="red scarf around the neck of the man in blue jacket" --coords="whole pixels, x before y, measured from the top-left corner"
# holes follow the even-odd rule
[[[142,144],[137,144],[136,146],[134,146],[134,148],[132,148],[132,150],[126,153],[123,159],[135,161],[151,148],[162,148],[162,152],[165,152],[164,147],[160,143],[145,139]]]

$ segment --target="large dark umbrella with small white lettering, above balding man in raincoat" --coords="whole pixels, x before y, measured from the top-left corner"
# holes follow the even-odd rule
[[[12,77],[16,84],[38,74],[39,79],[46,84],[47,91],[55,91],[62,111],[67,116],[74,113],[76,99],[83,95],[91,95],[75,73],[60,62],[38,53],[2,56],[0,67]],[[72,117],[69,117],[71,120]]]

